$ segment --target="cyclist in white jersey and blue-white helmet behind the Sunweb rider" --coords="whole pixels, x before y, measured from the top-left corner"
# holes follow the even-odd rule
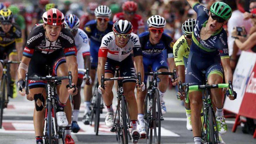
[[[84,68],[90,68],[90,45],[89,45],[89,39],[87,34],[79,29],[80,26],[80,20],[76,15],[70,14],[65,17],[64,20],[65,29],[70,31],[72,35],[74,36],[75,45],[77,47],[77,65],[78,68],[84,69]],[[78,114],[79,114],[79,108],[81,104],[81,96],[80,96],[80,90],[81,90],[81,84],[83,82],[83,72],[78,72],[78,79],[77,79],[77,88],[78,93],[77,95],[73,96],[74,100],[74,110],[73,110],[73,119],[72,119],[72,125],[71,125],[71,111],[66,112],[67,119],[69,122],[68,129],[71,129],[74,133],[77,133],[80,130],[79,125],[77,124],[78,121]],[[90,85],[92,83],[92,80],[86,79],[86,84]],[[70,101],[68,100],[68,103]],[[71,106],[70,104],[67,104],[68,106]],[[69,108],[70,109],[70,108]],[[65,109],[66,110],[66,109]],[[66,133],[66,131],[65,131]]]

